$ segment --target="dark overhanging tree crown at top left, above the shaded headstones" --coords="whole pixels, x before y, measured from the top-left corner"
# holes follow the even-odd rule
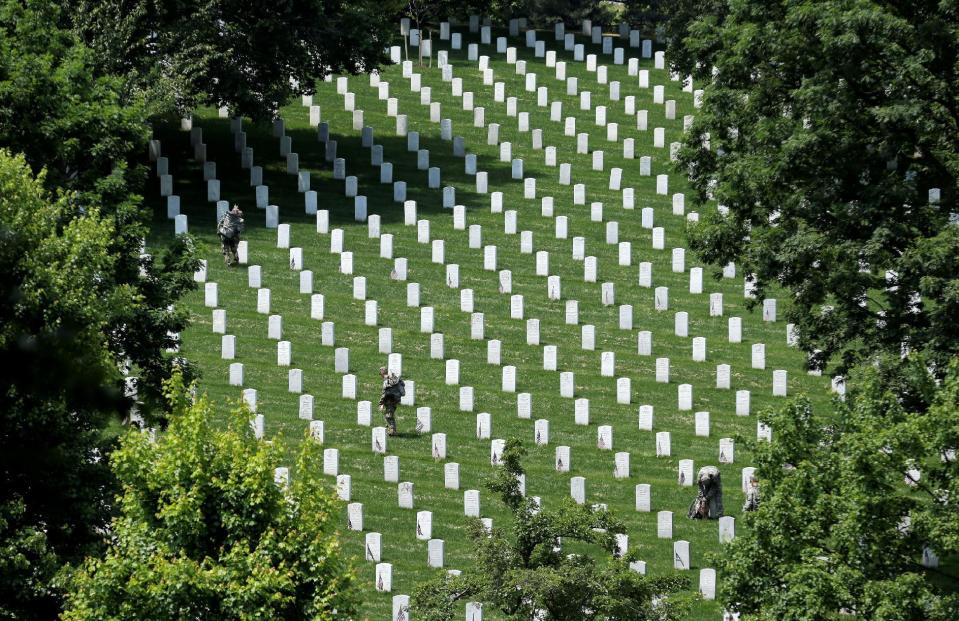
[[[270,119],[330,73],[386,61],[398,0],[68,3],[73,25],[131,88],[159,91],[181,112],[228,106]]]

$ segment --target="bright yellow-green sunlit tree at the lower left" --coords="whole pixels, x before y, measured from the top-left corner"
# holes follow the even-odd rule
[[[165,386],[170,426],[121,439],[121,513],[106,555],[68,581],[62,618],[349,618],[354,577],[320,445],[306,439],[291,480],[275,483],[282,449],[254,438],[248,410],[218,430],[210,402],[191,403],[179,376]]]

